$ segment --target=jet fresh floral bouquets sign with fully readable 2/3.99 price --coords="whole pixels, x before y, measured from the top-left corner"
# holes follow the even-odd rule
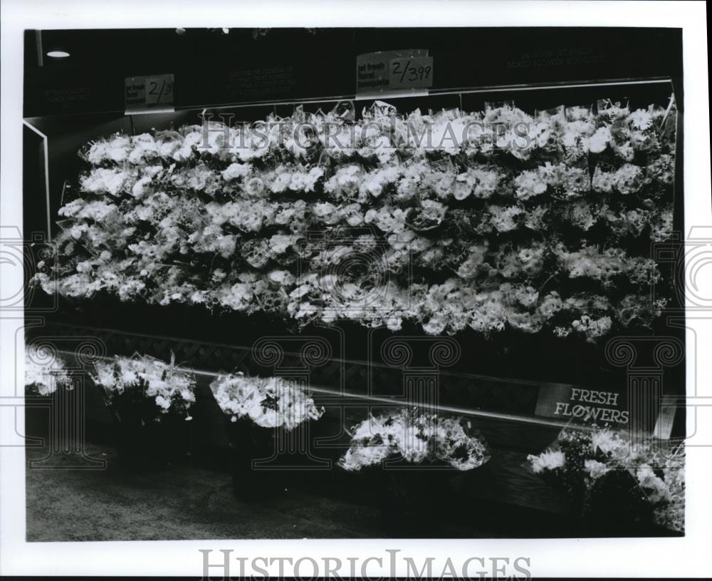
[[[433,74],[433,57],[426,49],[360,54],[356,57],[356,95],[427,93]]]

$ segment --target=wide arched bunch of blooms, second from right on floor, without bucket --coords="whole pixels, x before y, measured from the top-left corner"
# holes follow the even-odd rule
[[[411,463],[442,462],[460,471],[478,468],[489,459],[485,443],[468,433],[460,418],[434,413],[402,409],[372,416],[354,426],[351,436],[351,447],[339,461],[348,471],[396,456]]]

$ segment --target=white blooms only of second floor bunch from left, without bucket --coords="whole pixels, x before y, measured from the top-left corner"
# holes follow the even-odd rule
[[[195,378],[175,364],[150,356],[117,356],[95,364],[93,381],[102,387],[107,403],[122,413],[138,413],[142,421],[159,420],[167,413],[192,419]]]

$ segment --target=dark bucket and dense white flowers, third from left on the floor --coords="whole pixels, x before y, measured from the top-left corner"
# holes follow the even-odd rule
[[[229,418],[233,490],[237,498],[266,498],[289,488],[308,461],[308,421],[323,416],[307,391],[280,377],[239,372],[210,385]]]

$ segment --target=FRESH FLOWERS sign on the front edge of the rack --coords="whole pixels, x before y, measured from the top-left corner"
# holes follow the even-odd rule
[[[599,426],[627,426],[626,394],[568,384],[542,384],[534,412],[537,416]]]

